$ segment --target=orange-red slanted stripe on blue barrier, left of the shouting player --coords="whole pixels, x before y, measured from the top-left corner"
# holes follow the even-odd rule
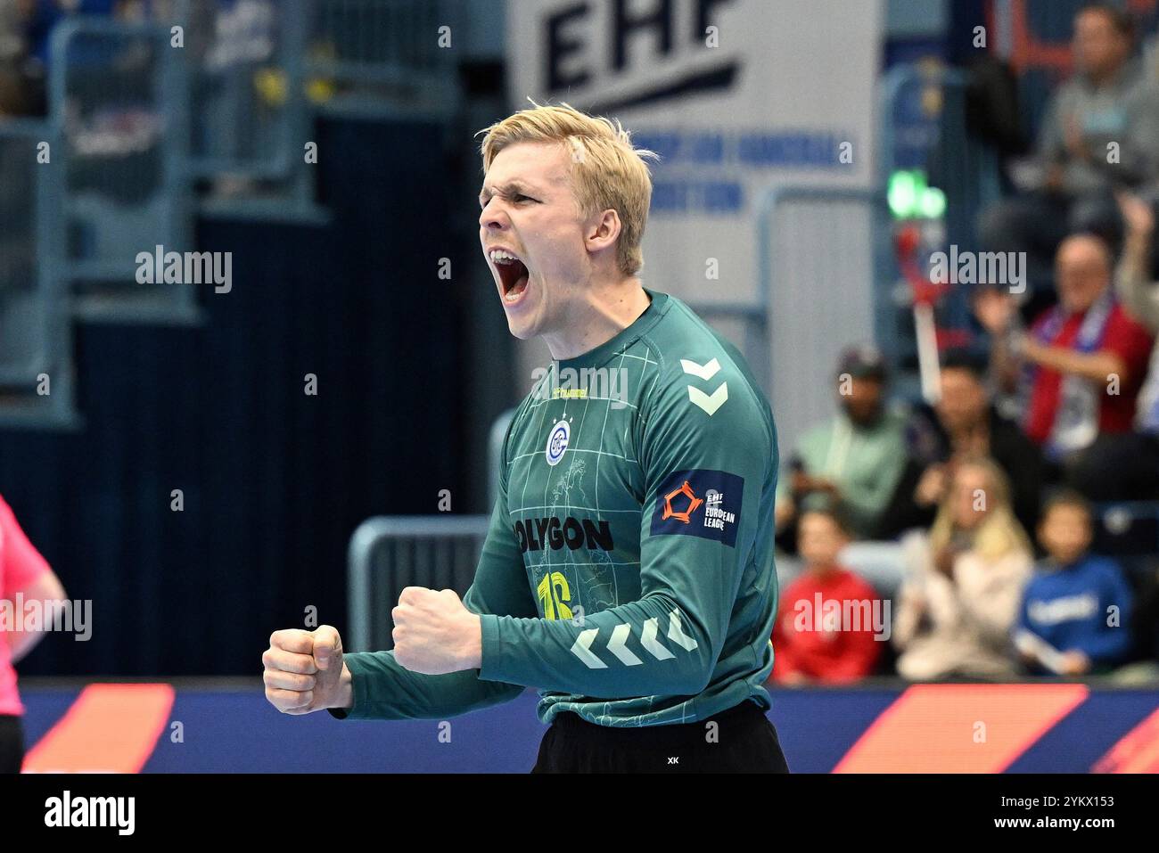
[[[24,757],[24,773],[139,773],[173,707],[168,684],[90,684]]]

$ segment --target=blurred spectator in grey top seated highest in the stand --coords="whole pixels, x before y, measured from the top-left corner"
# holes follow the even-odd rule
[[[1157,101],[1132,59],[1132,29],[1131,19],[1110,5],[1078,12],[1074,74],[1048,105],[1034,176],[1020,181],[1027,191],[996,203],[978,223],[984,249],[1027,253],[1040,296],[1049,292],[1050,261],[1066,234],[1089,231],[1117,242],[1111,188],[1156,178]]]

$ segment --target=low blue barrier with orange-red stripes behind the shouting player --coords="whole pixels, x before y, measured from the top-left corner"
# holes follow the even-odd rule
[[[21,692],[25,773],[525,773],[545,731],[532,691],[450,721],[289,716],[260,679],[27,679]],[[772,694],[794,772],[1159,772],[1159,687],[882,681]]]

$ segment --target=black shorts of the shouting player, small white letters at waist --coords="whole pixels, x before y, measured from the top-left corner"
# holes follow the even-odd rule
[[[715,729],[708,726],[715,722]],[[532,773],[788,773],[777,729],[745,700],[707,720],[615,729],[562,712]]]

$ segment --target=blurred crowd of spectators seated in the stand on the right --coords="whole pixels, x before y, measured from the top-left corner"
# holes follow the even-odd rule
[[[1159,672],[1159,73],[1132,10],[1153,12],[1073,8],[1037,122],[1016,65],[965,66],[1001,191],[962,249],[1018,253],[1026,275],[960,285],[970,316],[939,341],[932,401],[898,394],[872,344],[834,365],[837,411],[785,454],[779,541],[799,561],[775,678]],[[867,641],[868,611],[860,635],[799,622],[817,592],[890,598],[890,642]]]

